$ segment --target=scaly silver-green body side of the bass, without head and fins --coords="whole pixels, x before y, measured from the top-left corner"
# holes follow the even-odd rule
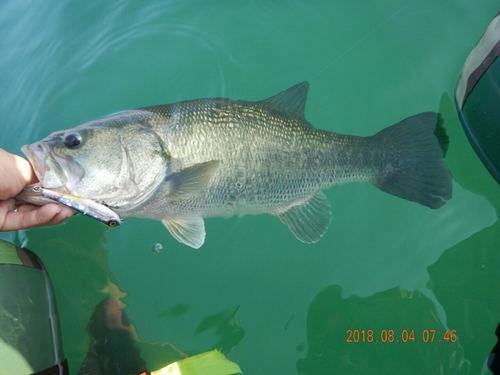
[[[175,202],[169,212],[188,214],[194,206],[204,217],[279,213],[318,190],[376,173],[373,154],[380,148],[369,138],[317,130],[259,104],[205,99],[147,109],[164,118],[157,131],[178,169],[221,161],[196,199]],[[360,147],[363,152],[356,152]]]

